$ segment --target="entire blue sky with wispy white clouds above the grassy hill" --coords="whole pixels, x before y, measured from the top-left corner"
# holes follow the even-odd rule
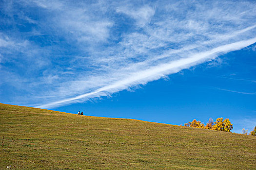
[[[0,1],[0,102],[256,125],[254,1]]]

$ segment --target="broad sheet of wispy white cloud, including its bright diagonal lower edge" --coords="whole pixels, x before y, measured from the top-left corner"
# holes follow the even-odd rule
[[[126,4],[5,1],[0,32],[15,46],[3,39],[0,61],[12,58],[17,70],[1,62],[3,84],[8,76],[27,80],[8,82],[17,99],[26,93],[23,104],[51,108],[110,96],[256,42],[252,1]]]

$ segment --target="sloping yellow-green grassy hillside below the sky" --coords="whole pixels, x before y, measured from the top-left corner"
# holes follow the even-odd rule
[[[256,170],[255,136],[1,103],[0,144],[1,170]]]

